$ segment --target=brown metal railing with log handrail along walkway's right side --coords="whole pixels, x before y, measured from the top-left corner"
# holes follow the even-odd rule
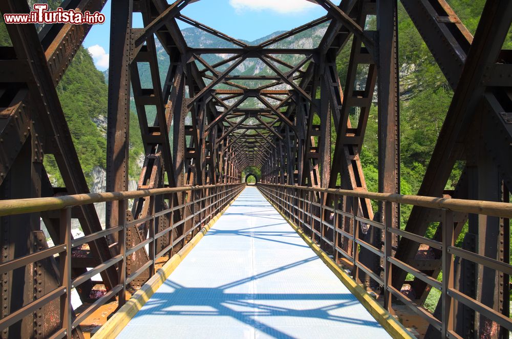
[[[291,222],[303,229],[313,241],[321,244],[328,252],[332,252],[338,264],[341,261],[350,263],[354,280],[357,281],[359,272],[362,271],[378,283],[383,291],[384,307],[390,313],[394,313],[391,303],[393,296],[437,329],[442,337],[460,338],[454,328],[455,303],[459,303],[480,313],[508,331],[512,331],[512,321],[507,316],[507,310],[504,310],[507,314],[504,315],[454,288],[454,257],[493,269],[496,274],[502,272],[505,274],[504,280],[506,282],[508,282],[508,277],[512,275],[512,266],[508,263],[509,258],[506,257],[504,261],[500,261],[457,247],[453,227],[454,213],[457,212],[503,218],[504,224],[509,225],[509,219],[512,218],[512,204],[264,183],[259,183],[258,188]],[[364,199],[383,202],[383,222],[360,216],[359,207]],[[351,206],[348,209],[346,208],[347,204]],[[395,204],[440,209],[443,225],[442,240],[436,241],[399,229],[392,222]],[[347,222],[350,225],[348,228],[344,227]],[[361,239],[361,223],[371,225],[381,231],[382,242],[380,246],[374,246]],[[452,227],[445,227],[445,225],[451,225]],[[392,239],[396,237],[407,238],[441,251],[442,281],[438,281],[394,257]],[[504,246],[509,246],[509,244],[505,243]],[[372,271],[359,261],[359,251],[361,249],[368,250],[380,258],[380,272]],[[392,270],[395,269],[412,274],[415,278],[441,291],[440,319],[437,319],[422,305],[418,305],[408,298],[400,287],[397,288],[392,285]],[[488,278],[495,279],[495,277]],[[504,298],[508,300],[508,294],[504,295]]]

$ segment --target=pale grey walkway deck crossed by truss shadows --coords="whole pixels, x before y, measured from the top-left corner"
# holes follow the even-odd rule
[[[255,187],[247,187],[118,338],[386,338]]]

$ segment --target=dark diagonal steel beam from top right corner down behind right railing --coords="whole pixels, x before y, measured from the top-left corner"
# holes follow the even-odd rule
[[[486,90],[483,81],[486,75],[486,67],[494,65],[500,55],[505,34],[510,26],[509,17],[507,17],[510,9],[508,5],[501,3],[491,6],[490,4],[486,5],[488,10],[486,15],[481,18],[479,29],[477,29],[479,34],[475,36],[470,52],[465,58],[461,78],[456,81],[456,83],[463,83],[463,87],[457,86],[455,88],[452,104],[439,133],[432,159],[418,191],[419,195],[439,196],[442,194],[455,161],[460,157],[456,153],[455,144],[468,129],[471,117],[477,105],[483,99]],[[460,27],[460,25],[457,27]],[[429,47],[431,49],[437,48],[434,45]],[[444,68],[447,66],[444,63],[445,60],[447,62],[449,59],[442,58],[442,60],[441,65]],[[503,120],[502,117],[499,119]],[[423,208],[413,208],[406,230],[424,234],[428,224],[422,220],[426,220],[426,213],[427,211]],[[416,251],[416,245],[404,240],[399,244],[397,257],[402,259],[411,258]],[[403,279],[403,274],[397,274],[393,280],[394,286],[399,286]]]

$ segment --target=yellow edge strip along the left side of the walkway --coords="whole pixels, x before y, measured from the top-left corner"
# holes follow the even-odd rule
[[[243,190],[242,190],[243,192]],[[133,319],[135,314],[150,300],[151,296],[156,290],[162,286],[170,274],[178,267],[178,265],[185,259],[190,251],[196,247],[201,239],[206,235],[210,228],[219,220],[225,211],[233,204],[235,200],[242,194],[240,192],[231,202],[219,212],[214,218],[201,229],[201,231],[190,240],[178,253],[176,253],[169,261],[167,261],[162,268],[158,269],[153,277],[150,278],[142,287],[135,292],[132,298],[126,301],[114,315],[109,319],[101,328],[96,332],[94,339],[111,339],[116,337],[123,330],[126,325]]]

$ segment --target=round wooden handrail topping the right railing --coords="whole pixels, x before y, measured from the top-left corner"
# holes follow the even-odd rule
[[[400,194],[364,192],[360,190],[316,188],[306,186],[279,185],[258,183],[263,186],[279,186],[285,188],[302,189],[310,192],[327,193],[338,196],[348,196],[364,199],[373,199],[380,201],[396,202],[399,204],[416,205],[428,208],[444,208],[461,213],[482,214],[499,218],[512,219],[512,204],[505,202],[466,200],[451,198],[435,198],[423,196],[410,196]]]

